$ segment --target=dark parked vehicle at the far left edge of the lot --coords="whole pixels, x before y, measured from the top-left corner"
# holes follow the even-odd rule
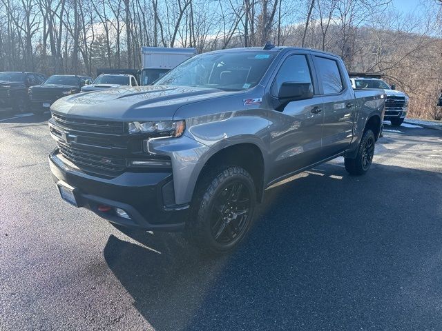
[[[28,88],[46,80],[37,72],[0,72],[0,108],[24,112],[29,107]]]

